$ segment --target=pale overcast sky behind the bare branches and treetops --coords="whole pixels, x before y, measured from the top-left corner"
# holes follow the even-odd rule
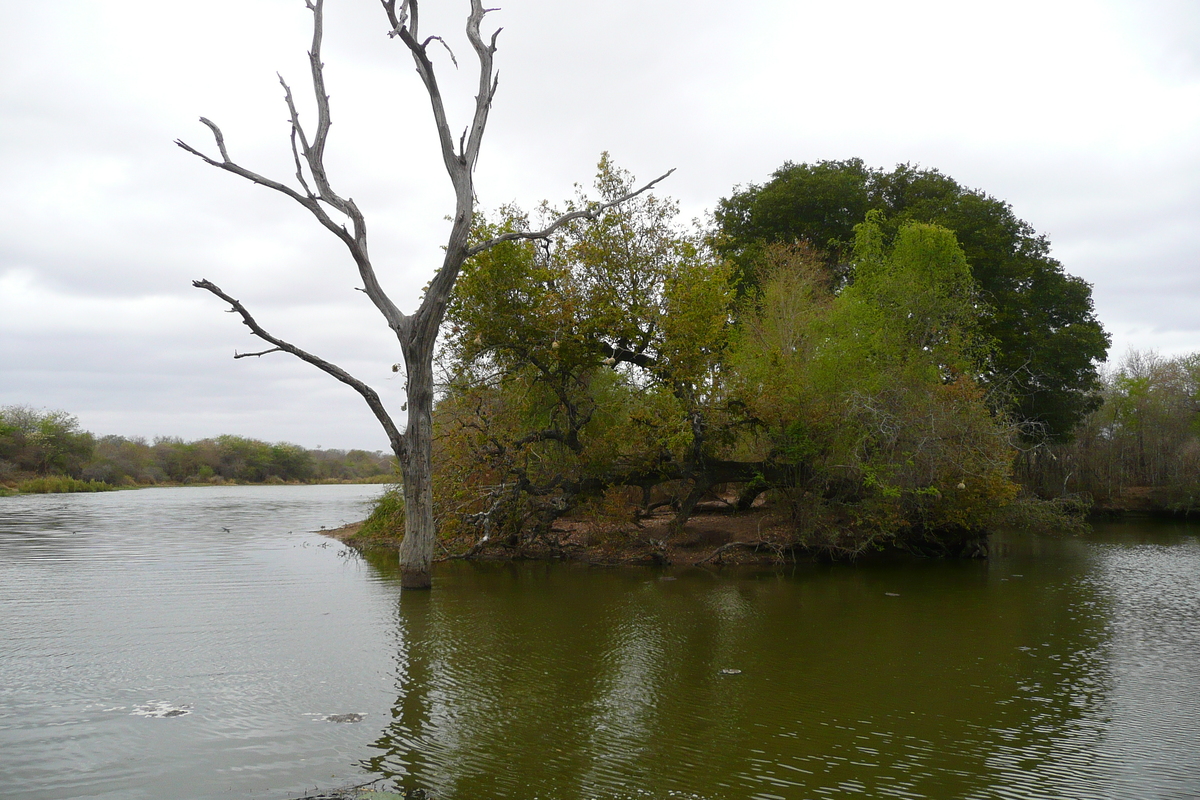
[[[499,2],[499,0],[494,0]],[[456,127],[466,0],[425,0]],[[931,167],[1012,203],[1092,283],[1112,355],[1200,350],[1195,0],[508,0],[485,207],[560,200],[602,150],[702,217],[785,161]],[[256,341],[191,282],[403,402],[395,339],[299,206],[205,166],[292,173],[276,71],[305,98],[304,0],[0,0],[0,405],[96,433],[386,447],[358,395]],[[452,209],[428,103],[376,0],[326,0],[335,188],[410,311]],[[311,102],[301,114],[312,119]]]

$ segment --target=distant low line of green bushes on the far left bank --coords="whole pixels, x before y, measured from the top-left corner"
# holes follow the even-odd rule
[[[306,450],[235,435],[96,437],[66,411],[0,408],[0,494],[102,492],[161,485],[386,483],[395,459],[366,450]]]

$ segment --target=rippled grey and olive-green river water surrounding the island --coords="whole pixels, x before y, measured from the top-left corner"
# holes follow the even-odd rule
[[[1194,527],[402,595],[378,489],[0,499],[0,798],[1200,796]]]

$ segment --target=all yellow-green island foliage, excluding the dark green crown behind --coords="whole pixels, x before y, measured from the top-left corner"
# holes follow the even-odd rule
[[[632,185],[604,160],[596,200],[541,213]],[[736,271],[676,217],[642,196],[467,265],[436,415],[443,531],[516,543],[661,503],[682,523],[716,491],[769,491],[787,546],[972,552],[1015,487],[954,234],[864,215],[836,281],[797,246]],[[528,225],[510,207],[479,235]]]

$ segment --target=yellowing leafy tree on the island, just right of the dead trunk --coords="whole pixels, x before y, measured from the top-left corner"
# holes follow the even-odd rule
[[[541,215],[602,206],[631,187],[604,156],[595,199]],[[504,242],[464,267],[448,312],[439,463],[449,501],[485,533],[532,523],[536,534],[611,486],[708,482],[732,285],[677,216],[672,201],[640,196],[594,224],[564,225],[552,243]],[[504,209],[476,235],[528,224]]]

